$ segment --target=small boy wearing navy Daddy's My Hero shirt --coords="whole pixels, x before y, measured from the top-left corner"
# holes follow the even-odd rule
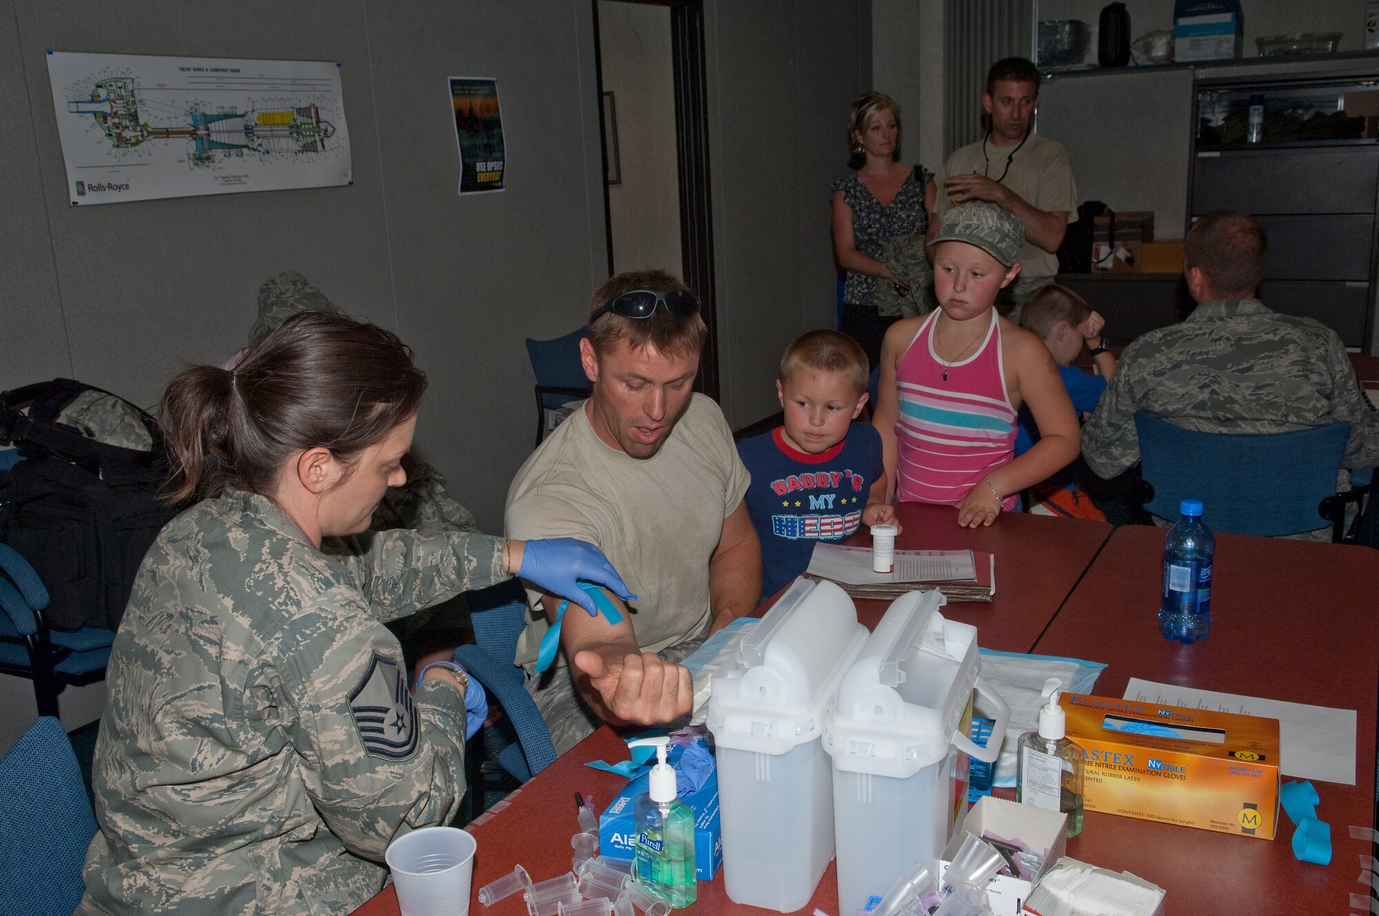
[[[783,425],[738,443],[752,472],[747,512],[761,539],[761,595],[809,566],[816,541],[837,544],[862,524],[895,524],[885,501],[881,439],[855,424],[867,401],[867,359],[838,331],[809,331],[781,357]]]

